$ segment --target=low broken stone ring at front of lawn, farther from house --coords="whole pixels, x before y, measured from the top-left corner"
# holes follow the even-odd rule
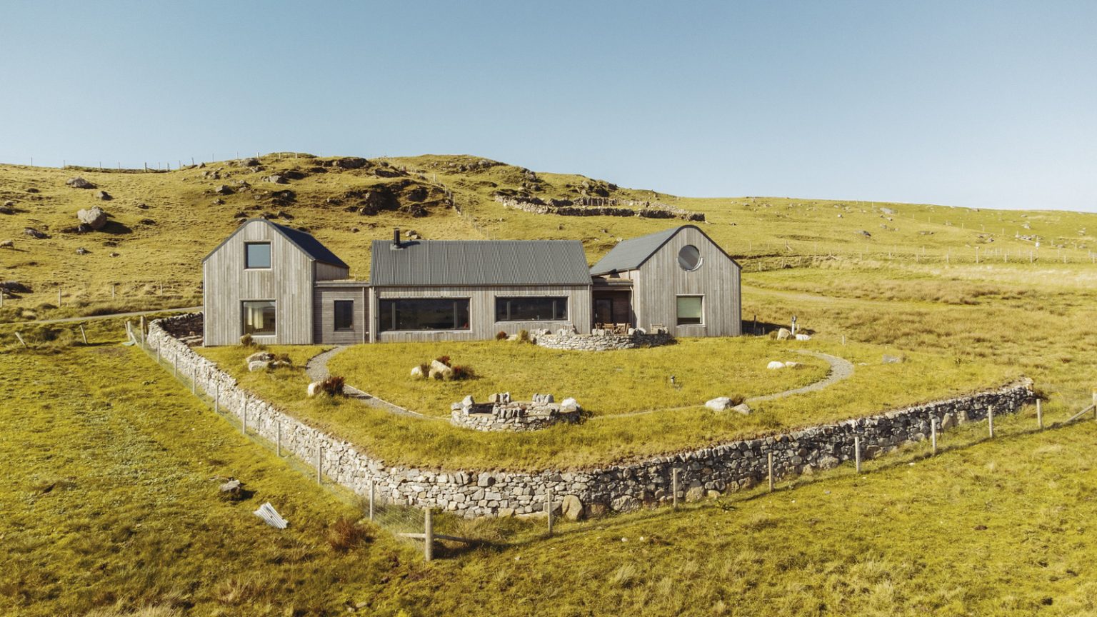
[[[575,399],[556,403],[552,394],[534,394],[532,401],[511,401],[510,392],[502,392],[488,396],[487,403],[465,396],[451,406],[450,423],[474,430],[519,433],[577,423],[579,411]]]

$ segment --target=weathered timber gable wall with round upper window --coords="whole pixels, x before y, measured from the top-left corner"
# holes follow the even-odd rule
[[[686,245],[701,253],[697,270],[678,266],[678,251]],[[739,266],[694,228],[685,227],[675,234],[629,278],[633,280],[632,302],[638,327],[663,324],[679,337],[743,334]],[[701,325],[676,325],[679,295],[703,296]]]

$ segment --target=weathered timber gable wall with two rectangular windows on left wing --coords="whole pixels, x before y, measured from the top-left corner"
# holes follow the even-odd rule
[[[271,268],[244,268],[244,244],[271,243]],[[313,343],[313,260],[262,221],[246,223],[202,267],[205,345],[236,345],[244,335],[241,303],[273,300],[275,334],[257,336],[271,345]]]

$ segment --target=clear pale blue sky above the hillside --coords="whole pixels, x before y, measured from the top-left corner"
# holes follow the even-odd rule
[[[0,4],[0,160],[474,154],[1097,211],[1097,2]]]

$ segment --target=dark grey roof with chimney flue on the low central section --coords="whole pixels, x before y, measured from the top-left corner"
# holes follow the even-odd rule
[[[370,284],[589,285],[579,240],[373,240]]]

